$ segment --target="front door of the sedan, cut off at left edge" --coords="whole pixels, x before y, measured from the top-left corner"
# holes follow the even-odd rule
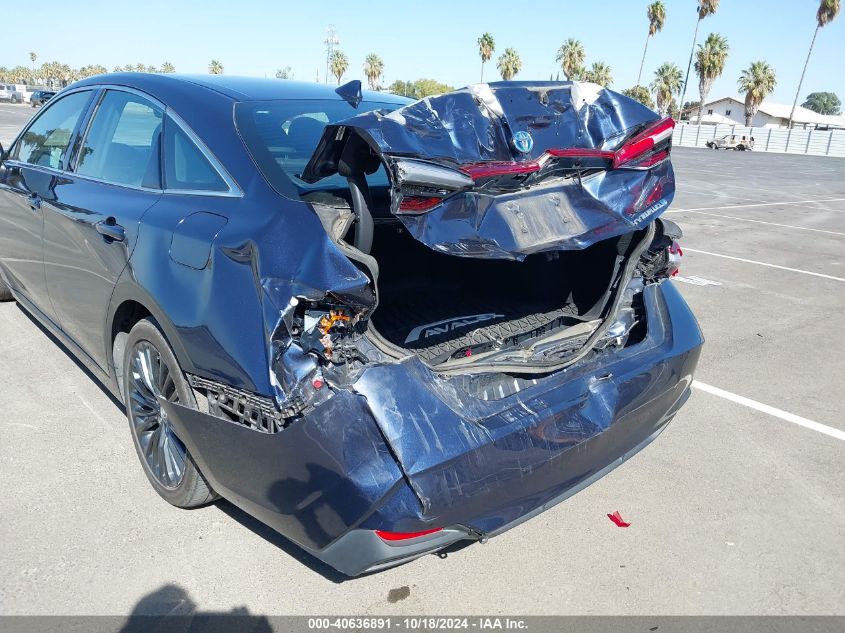
[[[42,254],[44,215],[67,186],[68,146],[93,95],[73,92],[45,107],[0,167],[0,266],[16,292],[51,320]]]

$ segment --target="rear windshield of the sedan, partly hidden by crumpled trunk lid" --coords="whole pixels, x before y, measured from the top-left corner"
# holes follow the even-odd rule
[[[362,101],[354,108],[335,99],[243,101],[235,106],[235,125],[258,169],[280,194],[298,197],[315,190],[346,189],[346,179],[334,175],[308,184],[299,176],[320,142],[328,123],[370,110],[395,110],[396,103]],[[384,168],[368,176],[370,186],[387,186]]]

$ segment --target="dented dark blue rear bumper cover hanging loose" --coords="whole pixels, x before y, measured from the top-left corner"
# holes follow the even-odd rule
[[[348,575],[495,535],[595,481],[686,400],[703,343],[671,283],[646,288],[648,334],[497,401],[416,357],[367,368],[276,434],[165,404],[212,487]],[[374,530],[439,532],[387,543]]]

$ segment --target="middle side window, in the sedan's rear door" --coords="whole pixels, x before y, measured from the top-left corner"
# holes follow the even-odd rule
[[[143,97],[109,90],[100,101],[79,151],[76,172],[133,187],[161,187],[164,112]]]

